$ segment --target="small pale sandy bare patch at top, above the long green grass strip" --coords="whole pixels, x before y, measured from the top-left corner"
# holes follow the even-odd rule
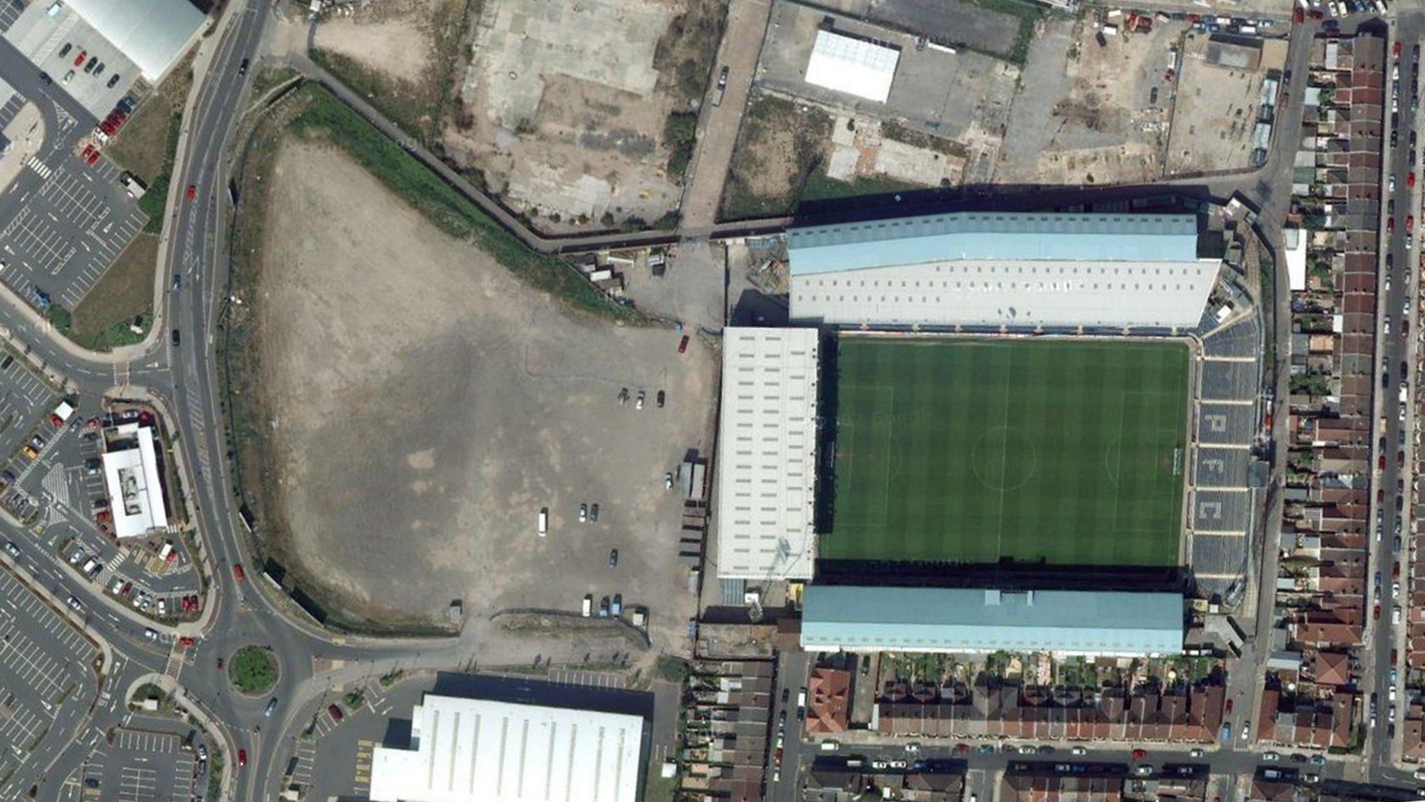
[[[429,64],[430,37],[420,30],[428,3],[382,3],[316,27],[318,47],[341,53],[390,77],[418,81]],[[418,19],[418,11],[420,11]]]

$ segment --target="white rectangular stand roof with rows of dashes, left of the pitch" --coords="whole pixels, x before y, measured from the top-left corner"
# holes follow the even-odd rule
[[[718,577],[812,575],[818,360],[814,328],[722,334]]]

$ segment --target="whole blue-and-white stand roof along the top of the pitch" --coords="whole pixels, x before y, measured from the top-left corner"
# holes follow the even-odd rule
[[[787,247],[804,324],[1188,328],[1220,268],[1190,214],[938,214],[794,228]]]

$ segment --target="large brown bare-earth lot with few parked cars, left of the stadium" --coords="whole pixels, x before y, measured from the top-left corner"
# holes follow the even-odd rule
[[[323,601],[435,618],[463,597],[484,618],[620,592],[677,648],[694,597],[663,475],[710,448],[714,357],[566,314],[335,151],[288,141],[269,191],[256,331],[278,512]]]

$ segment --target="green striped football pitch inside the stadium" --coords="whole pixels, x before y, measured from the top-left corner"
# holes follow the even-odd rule
[[[842,337],[826,559],[1177,565],[1178,342]]]

